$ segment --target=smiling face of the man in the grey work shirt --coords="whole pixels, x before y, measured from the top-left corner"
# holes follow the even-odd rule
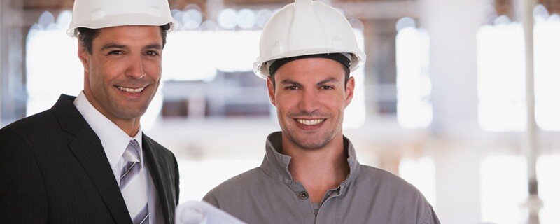
[[[267,80],[276,106],[282,144],[304,150],[342,144],[344,109],[353,97],[354,80],[344,87],[343,65],[332,59],[305,58],[283,64]],[[335,141],[333,141],[335,139]]]

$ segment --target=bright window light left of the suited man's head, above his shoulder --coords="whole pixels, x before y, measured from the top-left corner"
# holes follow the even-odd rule
[[[63,29],[31,28],[27,36],[27,116],[49,109],[61,93],[83,89],[78,41]]]

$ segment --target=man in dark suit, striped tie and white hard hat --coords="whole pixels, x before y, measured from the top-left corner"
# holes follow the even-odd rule
[[[174,223],[176,158],[140,125],[173,26],[166,0],[75,1],[83,91],[0,130],[0,223]]]

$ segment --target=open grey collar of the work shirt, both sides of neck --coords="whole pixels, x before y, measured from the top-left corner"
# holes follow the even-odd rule
[[[360,163],[356,159],[356,150],[352,145],[350,139],[344,138],[344,150],[346,151],[348,158],[348,165],[350,167],[350,173],[346,177],[343,185],[350,183],[356,178],[360,169]],[[288,165],[290,164],[291,157],[289,155],[283,155],[280,153],[282,149],[282,132],[272,132],[267,137],[266,144],[266,155],[265,160],[262,161],[262,169],[274,179],[283,181],[284,183],[291,183],[293,181],[292,174],[288,170]]]

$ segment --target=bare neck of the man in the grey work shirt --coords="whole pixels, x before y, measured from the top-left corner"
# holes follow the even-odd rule
[[[288,147],[284,147],[288,146]],[[325,148],[309,150],[283,144],[282,151],[290,155],[288,169],[294,181],[303,184],[311,202],[321,202],[328,190],[337,188],[350,172],[342,136]]]

